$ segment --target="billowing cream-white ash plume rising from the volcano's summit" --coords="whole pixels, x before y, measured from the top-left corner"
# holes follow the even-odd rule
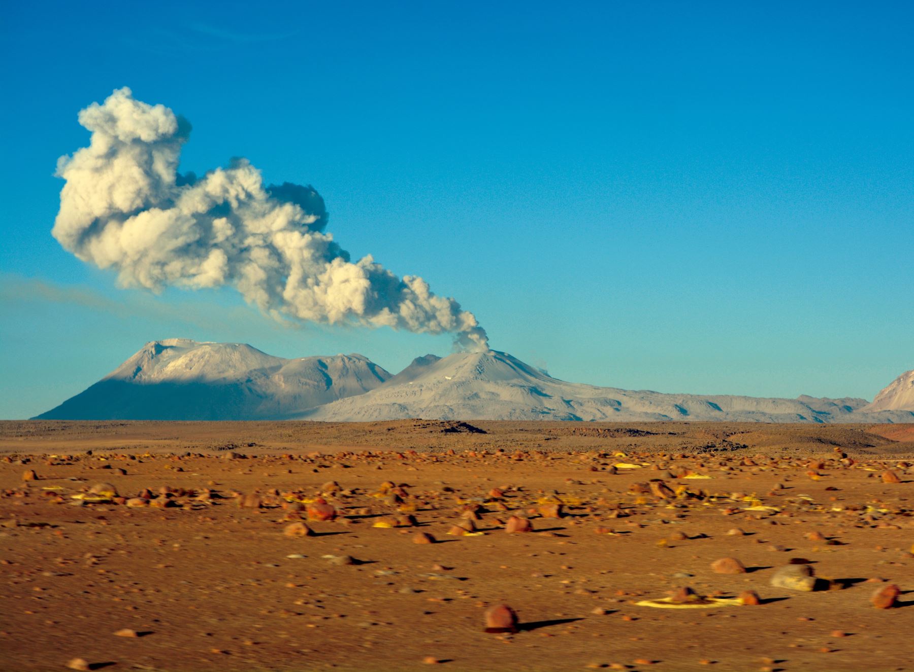
[[[422,278],[370,255],[352,261],[324,232],[324,199],[310,185],[264,185],[245,159],[200,178],[178,173],[190,124],[127,88],[79,119],[90,145],[58,160],[66,184],[52,234],[123,287],[231,285],[278,319],[450,332],[462,349],[488,349],[473,313]]]

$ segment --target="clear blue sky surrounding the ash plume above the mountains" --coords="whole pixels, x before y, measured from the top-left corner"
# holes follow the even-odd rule
[[[336,240],[576,382],[872,398],[914,367],[909,3],[6,3],[0,417],[145,341],[362,352],[230,289],[116,289],[50,236],[112,89],[193,124],[182,170],[314,184]]]

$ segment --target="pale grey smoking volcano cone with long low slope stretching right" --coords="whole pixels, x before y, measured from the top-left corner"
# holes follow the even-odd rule
[[[914,422],[908,412],[859,413],[865,399],[763,399],[661,394],[566,383],[505,352],[420,358],[377,389],[316,407],[314,420],[728,420]]]

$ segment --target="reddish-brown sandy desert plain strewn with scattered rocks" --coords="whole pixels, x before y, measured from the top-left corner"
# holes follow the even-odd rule
[[[893,426],[9,422],[0,495],[4,670],[914,669]]]

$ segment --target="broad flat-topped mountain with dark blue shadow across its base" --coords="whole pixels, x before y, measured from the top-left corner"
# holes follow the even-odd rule
[[[358,354],[283,359],[243,343],[167,339],[41,419],[260,420],[364,394],[390,374]]]

